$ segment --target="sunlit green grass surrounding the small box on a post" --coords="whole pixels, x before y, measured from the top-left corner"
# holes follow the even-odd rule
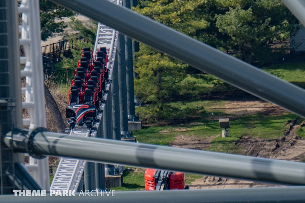
[[[195,122],[200,125],[179,125],[179,126],[151,126],[144,127],[142,130],[133,131],[137,140],[142,143],[167,145],[174,141],[175,136],[197,136],[206,138],[219,135],[213,138],[209,151],[219,151],[227,153],[239,153],[241,149],[236,148],[235,143],[243,135],[250,137],[260,137],[267,140],[282,137],[288,120],[297,119],[298,116],[286,113],[280,116],[262,116],[260,114],[242,116],[230,119],[231,128],[229,137],[222,138],[221,128],[218,120],[198,119]],[[178,129],[179,127],[179,129]],[[182,131],[185,130],[185,131]],[[177,132],[178,131],[178,132]]]

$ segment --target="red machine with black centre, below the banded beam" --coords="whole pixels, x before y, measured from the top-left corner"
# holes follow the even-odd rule
[[[144,179],[145,190],[189,189],[186,185],[185,173],[146,169]]]

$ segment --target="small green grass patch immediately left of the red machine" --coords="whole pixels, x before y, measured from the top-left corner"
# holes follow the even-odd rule
[[[135,191],[145,190],[144,184],[145,171],[143,169],[137,170],[137,168],[130,168],[125,170],[123,174],[122,187],[111,188],[111,190],[117,191]]]

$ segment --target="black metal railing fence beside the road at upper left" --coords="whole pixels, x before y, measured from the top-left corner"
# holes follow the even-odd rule
[[[86,40],[85,37],[77,37],[76,41],[91,43],[91,41]],[[73,46],[73,41],[70,39],[43,46],[41,47],[42,55],[50,58],[50,61],[43,61],[43,63],[59,62],[63,60],[63,58],[60,56],[61,54],[63,54],[66,58],[72,58],[73,56],[71,49],[78,50],[76,47]]]

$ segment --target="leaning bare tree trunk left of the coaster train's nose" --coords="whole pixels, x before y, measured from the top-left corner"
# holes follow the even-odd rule
[[[58,106],[55,102],[55,99],[53,98],[51,92],[49,91],[49,89],[46,85],[45,85],[45,101],[46,101],[47,107],[51,113],[51,117],[55,124],[57,132],[64,133],[65,128],[66,128],[65,122],[63,120],[63,117],[61,117],[61,114],[60,114]]]

